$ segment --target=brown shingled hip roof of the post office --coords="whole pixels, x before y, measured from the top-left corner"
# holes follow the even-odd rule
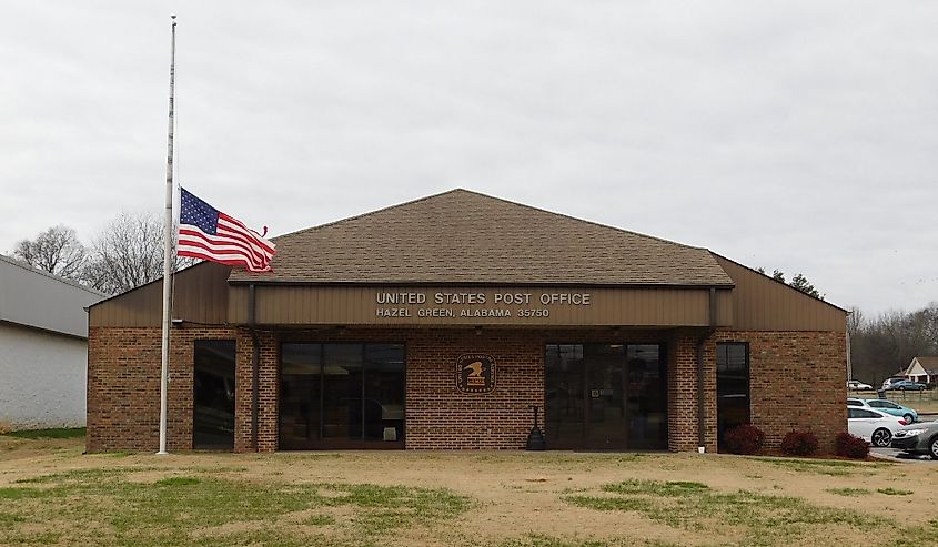
[[[453,190],[274,239],[233,282],[733,285],[705,249]]]

